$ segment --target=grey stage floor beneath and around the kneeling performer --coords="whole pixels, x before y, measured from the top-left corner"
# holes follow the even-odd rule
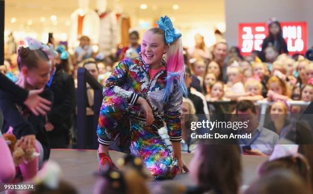
[[[113,161],[123,157],[123,153],[112,151],[110,156]],[[183,154],[185,162],[188,164],[192,158],[192,154]],[[267,157],[262,156],[242,156],[243,166],[243,184],[249,184],[256,178],[257,166],[266,160]],[[50,159],[58,162],[63,171],[63,178],[72,183],[79,193],[92,193],[96,178],[93,176],[98,171],[98,160],[96,150],[52,150]],[[185,185],[192,185],[192,181],[188,174],[176,176],[173,180]],[[163,181],[149,181],[149,186],[154,187]]]

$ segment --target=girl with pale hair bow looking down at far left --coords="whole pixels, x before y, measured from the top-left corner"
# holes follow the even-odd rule
[[[18,49],[17,64],[20,78],[16,85],[26,90],[42,89],[50,78],[51,61],[49,57],[56,57],[57,53],[52,47],[35,39],[27,37],[26,40],[29,46],[22,46]],[[49,90],[44,90],[40,96],[49,101],[52,101],[53,98],[53,94]],[[15,148],[20,147],[26,153],[38,153],[35,157],[15,163],[20,171],[20,177],[23,180],[29,180],[36,175],[42,162],[48,160],[50,155],[50,147],[44,130],[46,117],[35,115],[22,103],[15,103],[17,98],[18,96],[0,91],[0,109],[4,115],[3,131],[16,136]],[[5,166],[12,161],[10,158],[12,156],[4,157],[1,153],[0,156],[3,161],[7,161]],[[11,171],[10,174],[12,177],[15,172]],[[1,176],[2,174],[0,174],[0,178]],[[8,173],[7,177],[10,177]]]

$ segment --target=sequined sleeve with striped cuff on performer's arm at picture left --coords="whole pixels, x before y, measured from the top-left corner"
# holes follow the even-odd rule
[[[122,98],[127,99],[128,103],[134,105],[139,95],[133,91],[123,89],[123,85],[127,82],[128,66],[126,61],[121,61],[114,72],[106,80],[103,88],[103,96],[120,95]]]

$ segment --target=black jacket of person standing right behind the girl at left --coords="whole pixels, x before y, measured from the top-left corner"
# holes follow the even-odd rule
[[[54,130],[48,134],[67,133],[72,126],[72,115],[75,109],[74,79],[64,72],[60,65],[57,65],[50,89],[54,94],[54,102],[47,115]]]

